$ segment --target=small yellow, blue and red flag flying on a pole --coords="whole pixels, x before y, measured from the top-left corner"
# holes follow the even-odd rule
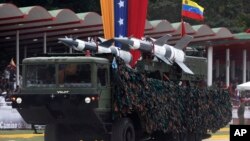
[[[202,21],[204,8],[192,0],[182,0],[182,16]]]

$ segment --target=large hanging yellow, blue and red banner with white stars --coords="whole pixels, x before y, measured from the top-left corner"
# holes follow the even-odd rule
[[[100,0],[104,37],[144,36],[148,0]],[[134,66],[140,51],[131,51]]]

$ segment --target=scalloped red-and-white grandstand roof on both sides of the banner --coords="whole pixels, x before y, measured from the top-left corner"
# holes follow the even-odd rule
[[[173,37],[170,44],[181,38],[181,22],[170,23],[166,19],[146,20],[145,25],[145,35],[153,38],[171,34]],[[185,23],[185,29],[187,34],[194,37],[191,45],[223,45],[229,41],[250,40],[249,33],[233,34],[225,27],[210,28],[206,24]],[[95,12],[75,13],[69,9],[46,10],[41,6],[18,8],[10,3],[0,4],[1,48],[15,49],[17,31],[20,34],[20,46],[28,47],[29,51],[42,50],[45,41],[50,50],[68,49],[57,43],[57,38],[64,36],[77,36],[80,39],[103,37],[102,17]]]

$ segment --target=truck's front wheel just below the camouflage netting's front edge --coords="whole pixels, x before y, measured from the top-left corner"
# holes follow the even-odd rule
[[[135,129],[129,118],[121,118],[112,126],[111,141],[135,141]]]

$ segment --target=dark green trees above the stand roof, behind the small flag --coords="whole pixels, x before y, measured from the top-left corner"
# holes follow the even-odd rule
[[[204,7],[204,22],[185,19],[192,25],[207,24],[210,27],[226,27],[232,32],[242,32],[250,27],[250,3],[248,0],[193,0]],[[167,19],[180,22],[182,0],[150,0],[148,19]]]

